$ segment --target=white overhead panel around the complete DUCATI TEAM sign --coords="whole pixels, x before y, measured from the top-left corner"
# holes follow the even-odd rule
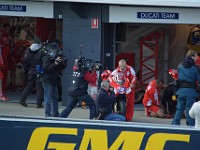
[[[171,13],[178,14],[178,18],[160,18],[154,17],[138,18],[138,13]],[[110,23],[165,23],[165,24],[200,24],[200,18],[195,17],[200,14],[199,8],[169,8],[169,7],[127,7],[127,6],[110,6],[109,22]]]

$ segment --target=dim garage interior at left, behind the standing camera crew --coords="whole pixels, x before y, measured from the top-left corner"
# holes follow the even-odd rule
[[[62,20],[40,17],[1,16],[0,26],[10,25],[12,39],[10,55],[8,56],[8,90],[16,91],[23,88],[24,80],[21,79],[21,68],[16,67],[22,63],[27,47],[39,38],[41,42],[58,41],[62,45]],[[15,78],[15,80],[14,80]],[[15,83],[14,83],[15,82]],[[13,87],[15,84],[16,87]]]

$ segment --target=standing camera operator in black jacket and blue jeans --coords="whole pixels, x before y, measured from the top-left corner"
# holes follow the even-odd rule
[[[42,67],[44,74],[42,82],[44,87],[45,116],[57,117],[58,111],[58,82],[61,71],[67,66],[66,60],[58,55],[60,49],[56,43],[52,44],[52,49],[48,50],[43,57]]]

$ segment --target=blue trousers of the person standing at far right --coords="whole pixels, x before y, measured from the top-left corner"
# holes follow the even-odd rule
[[[183,116],[183,112],[186,109],[186,124],[188,126],[194,126],[195,120],[190,117],[189,110],[195,101],[196,101],[196,97],[194,97],[194,96],[178,95],[176,114],[172,121],[173,125],[180,125],[180,121]]]

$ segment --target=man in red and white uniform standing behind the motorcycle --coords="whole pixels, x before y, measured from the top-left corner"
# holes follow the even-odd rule
[[[131,92],[126,95],[127,98],[127,103],[126,103],[126,121],[132,121],[133,114],[134,114],[134,100],[135,100],[135,91],[134,87],[136,84],[136,73],[135,70],[127,65],[125,59],[121,59],[119,61],[119,66],[117,69],[115,69],[109,76],[109,80],[111,80],[112,77],[117,76],[117,75],[122,75],[128,78],[130,82],[130,87],[131,87]]]

